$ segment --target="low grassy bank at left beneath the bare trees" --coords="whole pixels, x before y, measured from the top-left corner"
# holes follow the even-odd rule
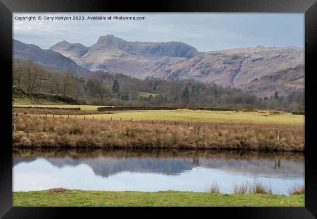
[[[85,101],[69,95],[63,97],[62,95],[34,92],[32,96],[29,97],[26,92],[17,86],[12,86],[12,101],[17,104],[87,105]]]

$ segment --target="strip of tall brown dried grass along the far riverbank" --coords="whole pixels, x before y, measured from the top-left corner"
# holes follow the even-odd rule
[[[277,138],[277,131],[281,132],[280,138]],[[303,125],[290,124],[120,121],[19,114],[13,147],[303,152],[304,129]]]

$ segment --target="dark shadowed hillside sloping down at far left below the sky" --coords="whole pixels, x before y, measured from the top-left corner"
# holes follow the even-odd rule
[[[60,53],[49,49],[41,49],[36,45],[25,44],[19,40],[13,40],[13,58],[33,60],[58,70],[73,69],[77,73],[89,73],[88,69],[79,66]]]

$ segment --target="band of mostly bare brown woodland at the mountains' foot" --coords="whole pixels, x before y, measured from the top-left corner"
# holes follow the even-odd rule
[[[193,79],[140,80],[124,74],[103,71],[90,74],[59,71],[31,60],[13,64],[13,85],[32,92],[72,95],[95,105],[151,105],[223,108],[258,108],[283,111],[304,110],[304,93],[294,91],[288,96],[265,98],[243,92],[235,87],[207,84]],[[148,95],[140,95],[140,92]]]

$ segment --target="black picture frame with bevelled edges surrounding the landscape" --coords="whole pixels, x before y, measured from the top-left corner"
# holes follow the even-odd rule
[[[305,207],[213,207],[210,208],[65,208],[12,207],[12,13],[13,12],[299,12],[305,13]],[[244,219],[314,219],[317,218],[317,159],[314,153],[316,67],[317,60],[317,2],[316,0],[160,0],[153,2],[102,0],[0,0],[0,58],[2,128],[0,159],[0,217],[65,218],[109,217],[135,215],[164,217],[177,211],[178,217],[232,216]],[[11,94],[12,95],[12,94]],[[308,101],[310,100],[310,101]],[[175,212],[176,213],[176,212]],[[205,216],[205,217],[206,217]]]

